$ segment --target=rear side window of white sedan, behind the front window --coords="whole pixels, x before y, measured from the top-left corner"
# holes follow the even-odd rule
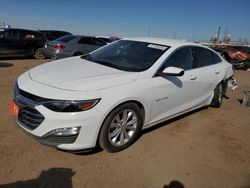
[[[221,61],[217,54],[205,48],[193,47],[192,53],[194,57],[193,68],[214,65]]]

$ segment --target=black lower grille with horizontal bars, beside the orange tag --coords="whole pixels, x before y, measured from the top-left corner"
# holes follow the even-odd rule
[[[44,117],[34,108],[21,107],[18,120],[28,129],[34,130],[43,122]]]

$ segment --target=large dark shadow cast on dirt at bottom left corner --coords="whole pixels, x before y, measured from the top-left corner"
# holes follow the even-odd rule
[[[50,168],[42,171],[36,179],[0,184],[0,188],[73,188],[72,177],[75,172],[69,168]]]

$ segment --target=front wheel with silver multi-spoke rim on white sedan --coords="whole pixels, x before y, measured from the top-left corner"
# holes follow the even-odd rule
[[[118,152],[139,137],[143,123],[140,108],[126,103],[115,108],[106,118],[99,135],[99,145],[108,152]]]

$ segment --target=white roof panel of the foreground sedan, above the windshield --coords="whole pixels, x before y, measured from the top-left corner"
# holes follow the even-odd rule
[[[161,44],[165,46],[183,46],[183,45],[194,45],[201,46],[199,44],[189,42],[186,40],[176,40],[176,39],[168,39],[168,38],[154,38],[154,37],[133,37],[133,38],[123,38],[122,40],[133,40],[138,42],[147,42],[154,44]]]

